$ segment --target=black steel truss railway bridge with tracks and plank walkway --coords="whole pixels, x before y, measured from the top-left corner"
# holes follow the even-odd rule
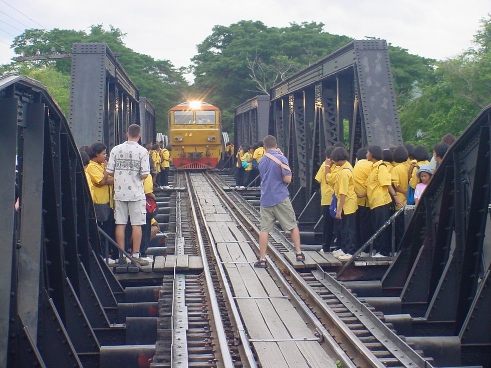
[[[370,110],[380,94],[366,88],[371,63],[385,60],[383,45],[350,44],[275,87],[267,130],[255,120],[264,116],[255,111],[261,99],[236,117],[237,136],[268,132],[288,147],[289,189],[301,229],[313,234],[304,262],[278,228],[268,269],[254,268],[259,191],[233,189],[226,172],[175,171],[173,189],[155,192],[165,235],[148,250],[154,261],[109,265],[113,244],[97,227],[77,147],[84,139],[112,147],[131,123],[148,121],[151,132],[152,108],[107,49],[79,50],[103,66],[94,77],[104,103],[91,119],[96,129],[68,122],[38,82],[0,78],[0,366],[491,366],[491,106],[406,210],[394,258],[342,263],[319,253],[311,175],[322,148],[350,117],[351,152],[400,139],[396,113],[381,119]],[[388,59],[384,65],[390,71]],[[387,121],[392,133],[373,133],[371,119]]]

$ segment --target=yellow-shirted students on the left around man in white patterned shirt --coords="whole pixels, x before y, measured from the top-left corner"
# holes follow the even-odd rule
[[[146,197],[155,200],[154,189],[170,188],[168,185],[168,171],[172,161],[169,157],[169,151],[172,148],[170,146],[163,147],[163,142],[156,144],[147,143],[145,147],[148,151],[149,167],[152,175],[148,175],[143,179],[143,190]],[[115,240],[114,177],[109,175],[106,170],[108,166],[107,147],[101,142],[96,142],[91,146],[82,146],[80,147],[80,155],[84,163],[87,184],[94,203],[97,224]],[[139,263],[142,265],[153,262],[153,258],[148,257],[145,251],[150,241],[155,238],[159,231],[159,224],[154,216],[147,215],[146,224],[142,225],[142,238],[138,257]],[[125,248],[131,253],[132,228],[130,223],[126,226],[125,233]],[[110,264],[115,263],[117,258],[117,252],[114,249],[112,252],[110,251],[108,262]],[[129,262],[129,260],[127,261]]]

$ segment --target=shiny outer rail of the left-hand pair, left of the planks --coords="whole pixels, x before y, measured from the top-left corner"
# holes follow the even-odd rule
[[[188,175],[186,174],[186,182],[187,182],[187,192],[189,195],[189,203],[191,206],[192,210],[192,217],[193,217],[193,223],[196,229],[196,237],[198,239],[198,244],[200,248],[200,253],[201,253],[201,260],[203,262],[203,273],[206,279],[206,286],[207,286],[207,291],[209,295],[209,303],[211,307],[211,312],[213,314],[213,323],[215,325],[215,333],[217,335],[218,339],[218,346],[220,350],[221,357],[223,359],[223,366],[225,368],[234,368],[233,360],[231,357],[230,350],[228,348],[228,342],[227,342],[227,337],[225,335],[225,328],[223,326],[223,322],[221,320],[220,316],[220,307],[218,306],[218,302],[216,299],[216,293],[215,289],[213,288],[213,280],[211,279],[211,272],[210,268],[208,265],[208,262],[206,260],[206,255],[205,255],[205,249],[204,249],[204,241],[201,236],[201,232],[198,231],[200,229],[198,218],[196,215],[196,207],[193,203],[193,198],[196,197],[196,189],[193,187],[192,190],[189,185],[189,180],[188,180]],[[193,195],[194,194],[194,195]],[[201,216],[203,216],[201,208],[199,208]],[[204,217],[202,217],[204,219]]]

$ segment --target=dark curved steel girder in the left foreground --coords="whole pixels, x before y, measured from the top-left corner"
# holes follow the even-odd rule
[[[0,108],[7,168],[0,177],[0,247],[12,260],[2,268],[0,296],[8,303],[2,310],[9,312],[0,319],[6,337],[0,339],[0,365],[96,367],[94,328],[111,329],[106,310],[115,321],[116,294],[122,299],[124,293],[96,255],[99,234],[78,149],[63,114],[37,82],[0,77]],[[16,149],[21,209],[14,213]],[[124,329],[118,331],[124,340]]]

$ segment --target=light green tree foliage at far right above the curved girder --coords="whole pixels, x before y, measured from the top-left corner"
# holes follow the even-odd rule
[[[491,16],[482,19],[475,47],[435,64],[420,96],[399,111],[405,141],[432,149],[445,133],[458,136],[491,103]]]

